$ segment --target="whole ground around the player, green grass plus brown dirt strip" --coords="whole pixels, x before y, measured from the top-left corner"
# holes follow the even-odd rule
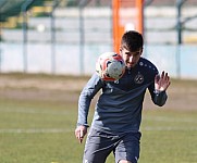
[[[74,129],[86,80],[0,75],[0,163],[82,163],[84,142],[77,142]],[[197,163],[196,86],[173,80],[162,109],[145,101],[139,163]],[[93,110],[94,101],[89,122]],[[114,163],[112,154],[107,163]]]

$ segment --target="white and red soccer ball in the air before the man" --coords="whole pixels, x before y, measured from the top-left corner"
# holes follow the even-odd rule
[[[118,80],[125,72],[124,60],[115,52],[102,53],[96,62],[96,72],[103,80]]]

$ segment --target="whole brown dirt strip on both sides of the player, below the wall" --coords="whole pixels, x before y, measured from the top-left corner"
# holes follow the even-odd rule
[[[77,103],[79,92],[88,78],[88,76],[1,74],[0,98]],[[196,80],[173,79],[168,90],[168,96],[169,99],[164,105],[165,109],[197,111]],[[145,97],[144,108],[156,108],[148,92]]]

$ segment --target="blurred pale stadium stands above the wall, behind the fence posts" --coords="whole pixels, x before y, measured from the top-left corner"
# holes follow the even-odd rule
[[[1,0],[0,1],[0,22],[4,22],[7,24],[13,24],[11,18],[15,15],[15,25],[10,25],[14,30],[9,29],[9,25],[3,28],[3,33],[1,33],[2,39],[7,41],[22,41],[22,23],[23,20],[20,14],[22,12],[22,5],[24,2],[28,1],[28,9],[30,9],[30,15],[28,16],[28,41],[41,41],[48,42],[50,41],[50,33],[51,33],[51,5],[52,2],[59,1],[59,7],[54,12],[56,16],[56,35],[58,42],[78,42],[79,38],[79,22],[78,22],[78,9],[73,7],[78,7],[82,0]],[[104,39],[106,43],[110,43],[111,40],[111,14],[109,13],[108,9],[103,9],[103,7],[111,7],[111,1],[106,0],[84,0],[87,1],[86,10],[84,11],[84,26],[85,26],[85,41],[86,42],[101,42],[103,41],[103,37],[108,36]],[[122,0],[124,1],[124,7],[128,7],[128,4],[134,3],[135,0]],[[149,5],[145,8],[145,25],[146,25],[146,38],[147,41],[150,43],[175,43],[176,42],[176,10],[175,4],[176,0],[145,0],[145,2],[149,2]],[[190,7],[189,10],[183,11],[184,17],[189,17],[196,14],[195,10],[192,9],[197,4],[196,0],[186,0],[184,7]],[[47,8],[48,7],[48,8]],[[94,8],[94,7],[101,7],[101,8]],[[157,8],[155,8],[157,7]],[[158,10],[158,7],[162,7],[162,9]],[[163,8],[167,7],[167,8]],[[46,9],[47,8],[47,9]],[[46,9],[46,10],[45,10]],[[94,11],[91,10],[94,9]],[[35,15],[35,13],[41,15]],[[47,12],[46,12],[47,11]],[[124,9],[124,13],[130,15],[131,11]],[[94,14],[98,14],[100,18],[97,17],[95,20]],[[196,21],[186,23],[184,25],[184,35],[187,42],[196,42]],[[104,26],[102,25],[104,24]],[[153,25],[152,25],[153,24]],[[163,25],[164,24],[164,25]],[[3,27],[3,25],[1,25]],[[38,32],[38,28],[45,28],[45,32]],[[40,29],[40,28],[39,28]],[[187,32],[188,30],[188,32]],[[193,33],[193,38],[190,39],[190,33]],[[194,36],[195,34],[195,36]],[[71,37],[72,36],[72,37]],[[94,36],[94,37],[93,37]],[[158,41],[157,36],[162,36],[162,40]],[[169,37],[167,37],[169,36]],[[194,39],[195,37],[195,39]]]

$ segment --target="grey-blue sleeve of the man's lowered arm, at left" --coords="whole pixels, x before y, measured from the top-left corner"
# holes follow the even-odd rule
[[[94,74],[82,90],[78,99],[78,120],[77,126],[84,125],[88,127],[87,116],[91,99],[102,88],[103,82],[97,74]]]

